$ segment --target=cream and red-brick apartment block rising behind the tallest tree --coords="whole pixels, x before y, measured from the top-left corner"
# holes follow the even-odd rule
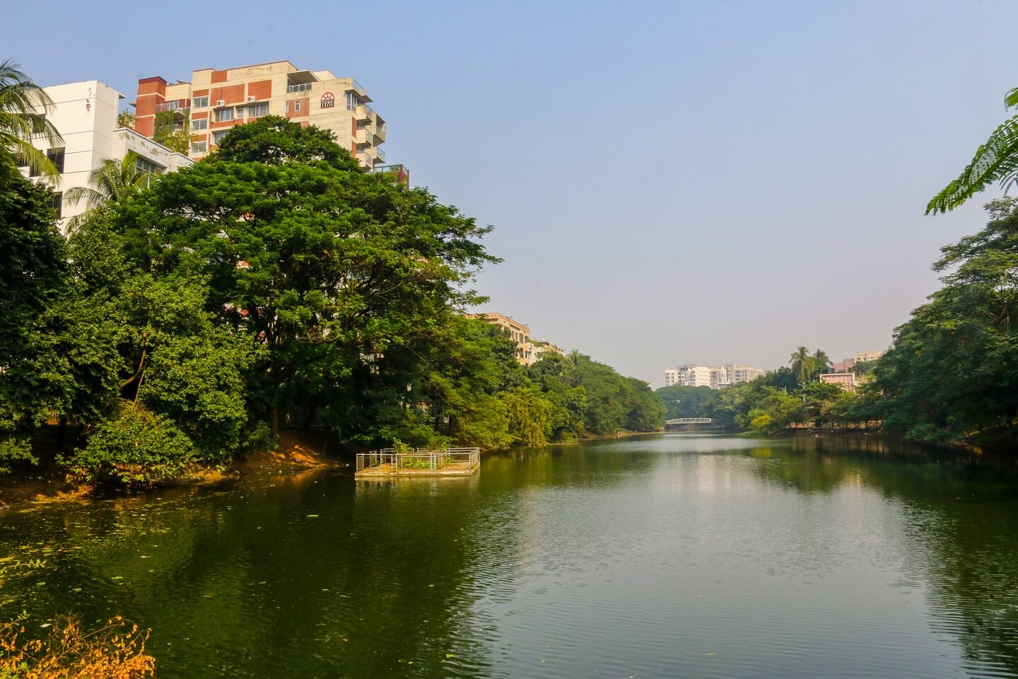
[[[204,158],[233,125],[266,115],[332,130],[338,144],[370,169],[385,165],[385,120],[352,77],[302,70],[289,61],[192,71],[189,82],[160,76],[137,81],[134,128],[148,137],[159,125],[187,127],[190,157]],[[405,168],[400,166],[400,171]]]

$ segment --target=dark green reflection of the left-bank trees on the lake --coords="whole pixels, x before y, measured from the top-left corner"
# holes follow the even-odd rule
[[[462,480],[322,474],[74,508],[47,539],[75,549],[22,600],[152,627],[160,676],[476,676],[491,661]]]

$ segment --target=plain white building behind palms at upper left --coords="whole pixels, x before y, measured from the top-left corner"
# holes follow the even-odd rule
[[[54,186],[54,207],[60,215],[60,227],[67,220],[84,212],[84,202],[71,206],[63,200],[68,188],[89,185],[89,173],[104,160],[121,161],[128,151],[138,157],[138,167],[149,172],[171,172],[193,161],[161,144],[138,134],[133,129],[117,125],[120,112],[119,92],[99,80],[84,80],[44,88],[53,100],[46,117],[60,132],[63,146],[49,148],[45,139],[36,147],[60,170],[60,181]],[[27,168],[22,168],[29,174]]]

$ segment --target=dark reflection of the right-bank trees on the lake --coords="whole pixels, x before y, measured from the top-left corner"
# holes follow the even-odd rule
[[[756,465],[802,493],[860,484],[904,502],[906,530],[926,550],[935,629],[958,637],[973,671],[1018,676],[1018,485],[1014,464],[879,439],[799,439]],[[755,456],[755,455],[754,455]]]

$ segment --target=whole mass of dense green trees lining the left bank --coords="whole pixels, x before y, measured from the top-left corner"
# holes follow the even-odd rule
[[[49,189],[8,166],[0,462],[32,459],[44,421],[73,428],[74,476],[126,486],[228,462],[284,426],[501,448],[661,425],[645,383],[587,356],[520,365],[463,313],[497,262],[490,227],[362,171],[330,132],[238,125],[192,167],[111,182],[124,190],[92,196],[67,240]]]

